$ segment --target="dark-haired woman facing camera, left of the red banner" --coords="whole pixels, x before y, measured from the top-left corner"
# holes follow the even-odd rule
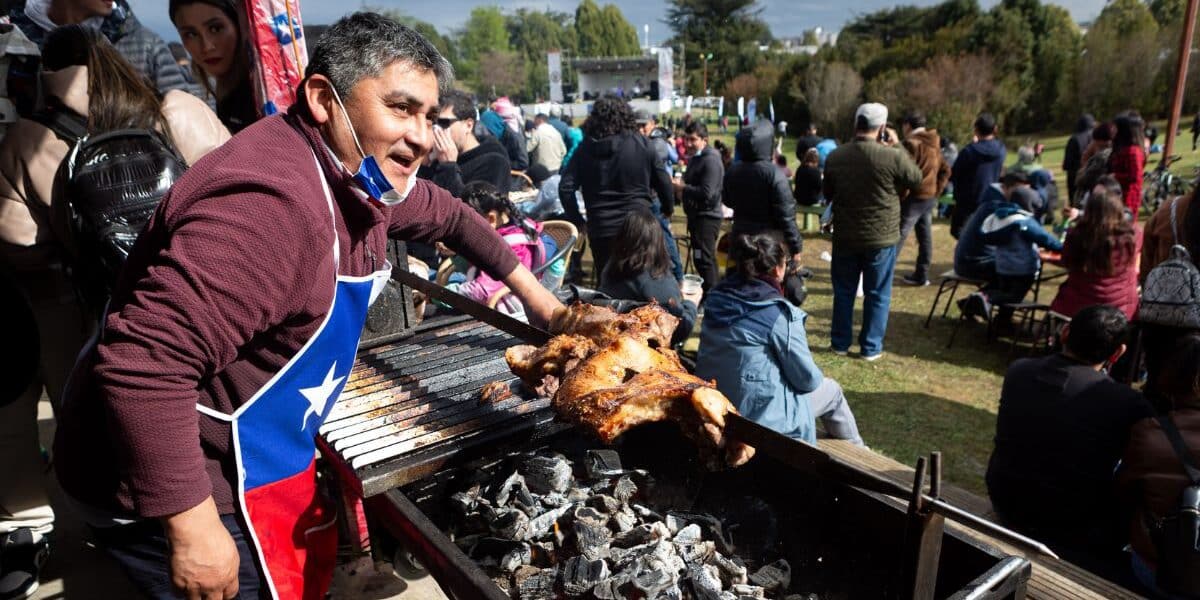
[[[170,0],[168,13],[221,122],[238,133],[258,120],[250,43],[233,0]]]

